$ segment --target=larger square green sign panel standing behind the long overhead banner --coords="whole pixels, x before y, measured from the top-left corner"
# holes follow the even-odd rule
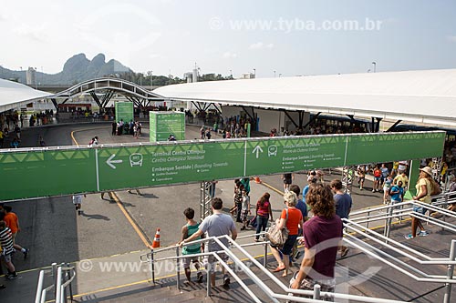
[[[182,112],[149,112],[150,142],[185,139],[185,114]]]

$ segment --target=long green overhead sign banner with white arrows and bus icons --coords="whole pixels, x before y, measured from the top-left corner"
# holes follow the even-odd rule
[[[283,136],[0,151],[0,200],[440,157],[444,132]]]

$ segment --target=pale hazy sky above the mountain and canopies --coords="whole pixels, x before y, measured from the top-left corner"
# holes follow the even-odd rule
[[[234,77],[455,68],[455,13],[452,0],[9,1],[0,65],[53,74],[69,56],[103,53],[174,76],[195,62]]]

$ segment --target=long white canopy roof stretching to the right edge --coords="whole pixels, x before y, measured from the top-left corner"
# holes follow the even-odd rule
[[[294,76],[162,86],[173,100],[456,126],[456,69]]]

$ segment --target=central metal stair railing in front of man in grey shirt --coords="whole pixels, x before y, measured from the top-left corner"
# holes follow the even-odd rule
[[[264,233],[260,233],[258,235],[261,235]],[[245,238],[245,237],[254,237],[254,235],[248,235],[244,237],[238,237],[237,239]],[[223,242],[221,241],[222,238],[226,238],[229,241],[229,244],[231,247],[239,250],[239,252],[242,253],[242,255],[246,258],[247,261],[251,262],[251,265],[253,265],[255,268],[259,268],[261,273],[263,273],[267,278],[270,278],[275,285],[277,285],[279,288],[283,290],[283,293],[275,293],[268,285],[264,283],[264,281],[260,278],[257,277],[254,272],[247,267],[243,261],[241,261],[240,258],[236,257],[234,253],[231,251],[229,247],[226,247],[223,245]],[[236,239],[236,240],[237,240]],[[348,295],[348,294],[343,294],[343,293],[336,293],[336,292],[323,292],[320,291],[320,286],[316,285],[314,290],[303,290],[303,289],[292,289],[288,288],[285,286],[285,284],[277,278],[269,269],[265,268],[266,262],[267,262],[267,246],[269,245],[268,241],[264,241],[261,243],[247,243],[247,244],[239,244],[235,242],[231,237],[228,236],[221,236],[221,237],[206,237],[200,240],[192,241],[189,243],[185,243],[183,246],[187,245],[194,245],[197,243],[202,243],[202,242],[208,242],[208,241],[215,241],[220,247],[223,248],[223,250],[217,251],[217,252],[206,252],[206,253],[201,253],[201,254],[194,254],[191,255],[192,257],[203,257],[203,256],[213,256],[216,258],[223,268],[227,269],[227,271],[230,273],[230,275],[239,283],[241,288],[243,288],[247,294],[254,300],[254,302],[261,302],[259,298],[257,298],[256,295],[254,295],[254,292],[248,288],[244,280],[238,276],[236,272],[234,272],[229,265],[223,261],[222,258],[218,256],[219,253],[224,253],[226,254],[231,260],[233,261],[233,264],[236,267],[239,267],[242,269],[242,272],[247,275],[248,278],[250,278],[253,282],[254,285],[258,288],[260,288],[263,293],[272,301],[272,302],[279,302],[279,299],[285,299],[285,300],[291,300],[294,302],[323,302],[321,299],[326,297],[326,298],[338,298],[338,299],[349,299],[352,301],[357,301],[357,302],[372,302],[372,303],[404,303],[405,301],[399,301],[399,300],[393,300],[393,299],[386,299],[386,298],[368,298],[364,296],[356,296],[356,295]],[[250,247],[250,246],[256,246],[256,245],[263,245],[264,246],[264,255],[263,255],[263,264],[258,262],[254,257],[252,257],[245,249],[244,247]],[[154,258],[154,255],[160,252],[168,251],[174,249],[176,251],[176,255],[173,257],[166,257],[166,258]],[[150,264],[150,269],[153,270],[154,266],[153,264],[156,262],[161,262],[161,261],[169,261],[169,260],[175,260],[177,263],[179,263],[179,260],[181,258],[189,258],[189,256],[181,256],[180,255],[180,249],[181,247],[179,246],[171,246],[171,247],[164,247],[161,249],[157,249],[156,251],[151,251],[148,254],[143,254],[140,256],[140,261],[141,262],[148,262]],[[179,266],[176,266],[176,278],[177,278],[177,288],[180,288],[181,284],[181,278],[180,278],[180,268]],[[152,271],[150,273],[152,282],[155,283],[155,273]],[[207,296],[211,296],[211,285],[210,285],[210,278],[209,278],[209,273],[207,273]],[[293,295],[297,296],[306,296],[308,298],[303,298],[303,297],[295,297]]]

